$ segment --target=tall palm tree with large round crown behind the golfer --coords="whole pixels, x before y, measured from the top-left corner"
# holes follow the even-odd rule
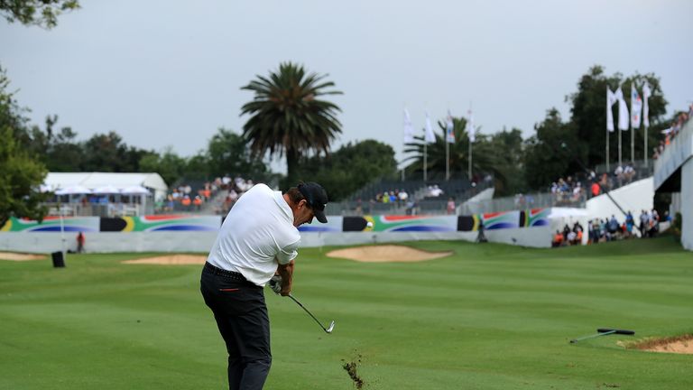
[[[326,90],[335,83],[328,75],[306,74],[302,66],[283,62],[269,77],[256,76],[241,89],[253,91],[241,115],[250,114],[243,126],[245,140],[255,155],[286,153],[285,184],[295,184],[300,157],[314,151],[328,153],[329,144],[342,132],[337,105],[320,100],[323,95],[341,95]]]

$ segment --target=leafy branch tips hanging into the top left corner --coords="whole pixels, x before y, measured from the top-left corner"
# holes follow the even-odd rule
[[[79,8],[78,0],[0,0],[0,14],[7,22],[52,28],[58,16]]]

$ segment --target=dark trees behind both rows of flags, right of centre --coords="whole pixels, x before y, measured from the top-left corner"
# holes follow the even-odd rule
[[[595,65],[577,81],[577,91],[565,99],[570,105],[569,118],[563,119],[559,110],[550,107],[541,122],[534,125],[534,134],[522,139],[522,131],[517,128],[502,129],[493,135],[476,134],[472,151],[472,171],[475,174],[492,174],[495,178],[496,194],[513,195],[530,190],[547,190],[552,181],[560,177],[582,172],[582,165],[594,168],[606,163],[606,88],[615,89],[622,86],[630,90],[636,83],[641,88],[647,82],[652,90],[649,99],[650,128],[648,132],[649,148],[661,141],[661,130],[670,127],[670,123],[679,113],[666,116],[667,101],[661,90],[660,79],[653,73],[635,73],[624,77],[621,73],[608,76],[603,67]],[[630,97],[626,98],[631,106]],[[427,144],[428,172],[439,177],[445,172],[446,125],[439,122],[436,141]],[[466,131],[467,119],[453,118],[455,143],[449,145],[450,175],[452,178],[467,177],[469,162],[469,135]],[[478,129],[477,129],[478,130]],[[618,131],[618,130],[616,130]],[[624,162],[630,157],[630,131],[623,133]],[[644,150],[644,131],[635,133],[635,160],[642,160],[645,154],[651,156],[651,150]],[[609,161],[614,163],[618,150],[618,134],[609,134]],[[407,176],[420,177],[423,172],[423,137],[407,144],[405,153],[409,153],[410,164]]]

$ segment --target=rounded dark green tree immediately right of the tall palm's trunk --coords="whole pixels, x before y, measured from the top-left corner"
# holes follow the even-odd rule
[[[346,200],[366,184],[396,175],[393,147],[374,140],[348,143],[327,156],[305,158],[299,169],[299,180],[318,181],[330,201]]]

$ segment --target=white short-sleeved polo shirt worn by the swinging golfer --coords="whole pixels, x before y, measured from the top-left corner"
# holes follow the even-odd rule
[[[282,192],[256,184],[228,212],[207,261],[263,286],[277,262],[285,265],[298,255],[299,244],[299,229]]]

